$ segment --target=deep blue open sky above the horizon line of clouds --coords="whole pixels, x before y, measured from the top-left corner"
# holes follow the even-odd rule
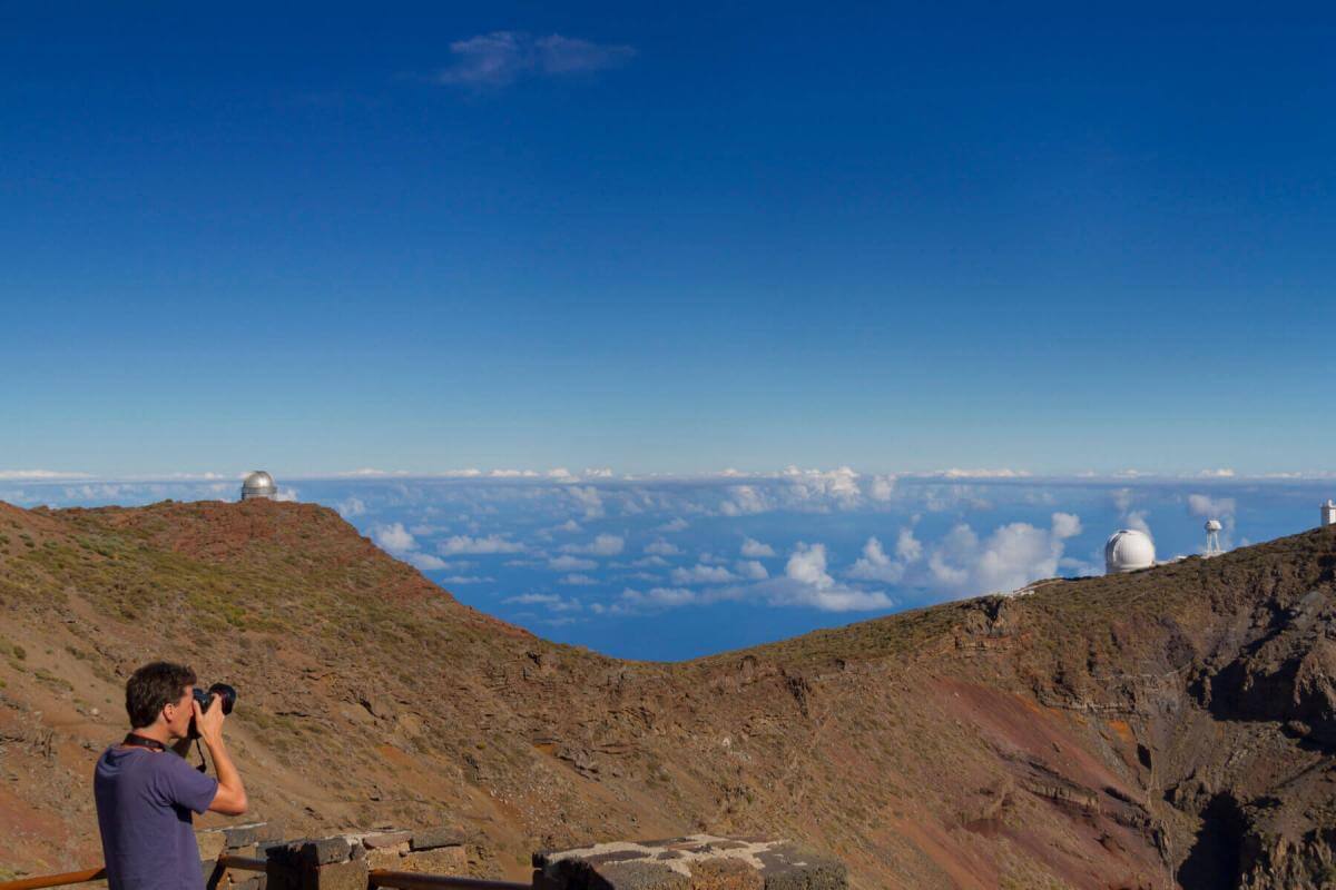
[[[7,7],[0,470],[1323,471],[1333,25]]]

